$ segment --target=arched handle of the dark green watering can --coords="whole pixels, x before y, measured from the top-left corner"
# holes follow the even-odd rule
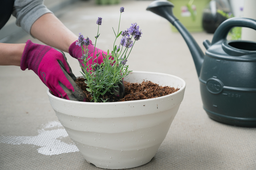
[[[214,32],[212,44],[215,44],[220,40],[226,40],[228,32],[235,26],[247,27],[256,30],[256,20],[250,18],[234,17],[222,22],[222,24],[220,24],[220,26]]]

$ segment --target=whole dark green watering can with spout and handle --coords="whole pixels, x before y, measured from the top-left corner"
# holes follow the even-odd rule
[[[234,26],[256,30],[256,20],[230,18],[203,42],[202,52],[188,30],[173,15],[174,5],[155,0],[147,10],[166,18],[182,34],[200,81],[203,108],[210,118],[234,126],[256,127],[256,43],[226,39]]]

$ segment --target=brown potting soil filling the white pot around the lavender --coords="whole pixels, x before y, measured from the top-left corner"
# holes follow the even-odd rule
[[[92,100],[91,94],[86,90],[88,88],[84,83],[84,78],[77,78],[76,84],[84,91],[86,94],[86,102]],[[116,97],[110,93],[106,93],[102,96],[107,102],[123,102],[123,101],[132,101],[132,100],[143,100],[150,98],[157,98],[161,96],[166,96],[180,90],[179,88],[173,88],[169,86],[159,86],[156,83],[150,81],[143,81],[142,83],[130,83],[124,81],[124,98]]]

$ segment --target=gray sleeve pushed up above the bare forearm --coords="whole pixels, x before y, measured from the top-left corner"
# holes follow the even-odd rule
[[[16,17],[16,25],[21,26],[28,34],[32,24],[46,13],[52,13],[43,5],[44,0],[15,0],[12,15]]]

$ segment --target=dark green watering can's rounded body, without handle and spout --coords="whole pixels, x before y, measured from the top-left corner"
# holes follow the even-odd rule
[[[203,108],[218,122],[256,127],[256,54],[227,55],[240,43],[255,52],[256,43],[222,40],[206,51],[199,76]]]

